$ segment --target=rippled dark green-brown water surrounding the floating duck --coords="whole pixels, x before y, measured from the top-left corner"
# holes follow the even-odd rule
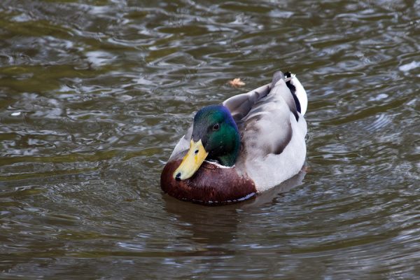
[[[163,194],[195,111],[279,69],[311,171]],[[0,278],[420,279],[419,81],[418,0],[0,1]]]

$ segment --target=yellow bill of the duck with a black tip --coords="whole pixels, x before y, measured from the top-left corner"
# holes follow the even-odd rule
[[[174,172],[174,179],[181,181],[190,178],[200,168],[209,153],[204,150],[201,139],[194,143],[190,142],[190,151],[181,162],[181,165]]]

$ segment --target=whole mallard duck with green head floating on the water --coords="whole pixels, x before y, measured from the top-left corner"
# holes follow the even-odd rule
[[[197,112],[160,177],[180,200],[211,204],[258,195],[299,173],[306,156],[307,94],[290,72]]]

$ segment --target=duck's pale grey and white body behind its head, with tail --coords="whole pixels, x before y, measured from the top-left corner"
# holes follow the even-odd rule
[[[307,133],[300,111],[306,111],[306,98],[297,78],[285,79],[283,73],[276,72],[272,83],[223,102],[237,122],[241,137],[235,165],[255,182],[259,191],[300,172],[306,156]]]

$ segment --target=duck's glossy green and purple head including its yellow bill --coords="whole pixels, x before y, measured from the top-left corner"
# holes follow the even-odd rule
[[[190,151],[174,172],[176,181],[190,178],[204,160],[221,165],[235,165],[241,140],[238,127],[225,106],[204,107],[194,117]]]

